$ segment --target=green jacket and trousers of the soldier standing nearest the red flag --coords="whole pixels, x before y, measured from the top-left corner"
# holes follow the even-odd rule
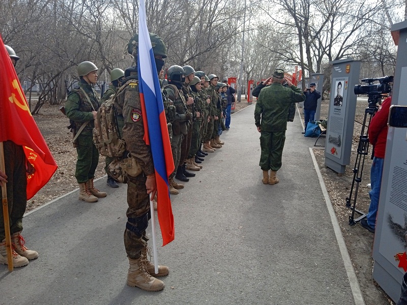
[[[83,91],[82,91],[83,90]],[[89,97],[89,100],[88,98]],[[75,132],[77,133],[82,124],[89,123],[76,139],[76,161],[75,177],[78,183],[84,183],[95,177],[95,171],[99,162],[99,151],[93,142],[93,129],[95,127],[92,111],[98,111],[99,98],[93,86],[83,78],[68,95],[65,105],[65,113],[69,119],[75,121]]]

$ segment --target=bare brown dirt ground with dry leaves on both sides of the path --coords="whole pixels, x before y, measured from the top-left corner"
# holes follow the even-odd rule
[[[254,101],[255,103],[255,101]],[[236,103],[236,111],[243,109],[250,104],[242,99]],[[323,101],[321,107],[321,118],[328,117],[329,101]],[[329,196],[338,218],[339,225],[344,236],[348,252],[351,256],[353,266],[357,273],[359,285],[362,290],[364,300],[367,305],[394,304],[386,293],[374,282],[372,278],[373,259],[372,246],[373,234],[361,227],[349,225],[351,210],[345,205],[345,198],[349,197],[354,177],[353,168],[356,160],[356,150],[362,127],[362,121],[367,107],[367,101],[357,103],[357,114],[355,118],[354,139],[352,148],[352,158],[349,166],[346,166],[346,173],[339,175],[325,167],[324,147],[313,149],[319,168],[325,180]],[[302,108],[300,108],[302,110]],[[302,112],[302,111],[300,111]],[[39,207],[52,199],[66,194],[77,188],[75,179],[76,150],[72,147],[72,135],[66,128],[69,121],[65,115],[59,111],[59,106],[44,105],[40,113],[34,116],[39,129],[41,130],[59,168],[52,176],[48,184],[42,188],[27,204],[27,211]],[[323,145],[325,140],[319,140],[318,144]],[[371,150],[370,150],[371,151]],[[357,197],[357,208],[367,211],[369,207],[369,195],[367,184],[370,183],[370,151],[366,156],[363,168],[362,182],[359,185]],[[100,157],[96,178],[105,175],[104,157]],[[358,215],[355,215],[357,218]]]

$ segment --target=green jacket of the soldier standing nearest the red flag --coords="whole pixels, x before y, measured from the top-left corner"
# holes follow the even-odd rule
[[[91,102],[88,101],[88,97]],[[83,123],[89,121],[82,134],[92,135],[95,127],[92,111],[98,111],[98,109],[99,98],[94,87],[81,78],[78,85],[69,93],[65,104],[66,115],[75,121],[75,131],[77,132]]]

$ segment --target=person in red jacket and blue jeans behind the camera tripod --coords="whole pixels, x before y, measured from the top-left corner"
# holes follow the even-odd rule
[[[382,106],[377,110],[369,124],[369,142],[373,145],[374,158],[370,169],[369,192],[370,205],[366,218],[360,221],[362,227],[374,233],[376,228],[377,207],[379,206],[380,186],[382,184],[383,163],[386,151],[387,121],[391,106],[391,97],[386,98]]]

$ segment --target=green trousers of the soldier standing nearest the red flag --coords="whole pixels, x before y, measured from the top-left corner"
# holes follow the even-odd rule
[[[75,177],[78,183],[83,183],[95,177],[95,171],[99,163],[99,150],[93,143],[93,136],[80,134],[76,139],[76,160]]]

